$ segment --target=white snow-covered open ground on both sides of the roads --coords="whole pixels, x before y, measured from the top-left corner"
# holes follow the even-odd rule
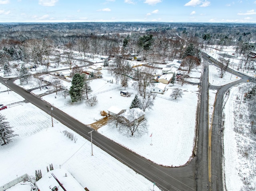
[[[218,54],[215,55],[216,57],[218,56]],[[214,53],[212,56],[214,56]],[[96,62],[96,60],[97,62],[100,61],[100,59],[91,61]],[[189,79],[189,81],[199,82],[201,68],[192,71],[190,77],[193,78]],[[209,66],[209,71],[209,82],[212,85],[224,85],[239,79],[228,73],[223,79],[220,79],[216,67],[212,65]],[[114,83],[109,83],[108,81],[114,80],[114,77],[108,74],[106,70],[103,70],[102,73],[106,81],[104,79],[95,79],[90,82],[90,86],[93,89],[92,94],[96,94],[99,102],[94,107],[88,107],[84,102],[70,104],[70,98],[64,99],[60,95],[55,98],[54,93],[42,98],[84,124],[91,124],[95,120],[102,118],[100,111],[107,111],[110,106],[114,105],[128,109],[136,91],[127,89],[127,91],[134,94],[131,97],[120,96],[120,90],[124,88],[118,87],[115,81]],[[0,74],[2,75],[2,73]],[[16,81],[16,83],[19,84],[19,81]],[[32,87],[34,87],[32,84],[24,86],[26,89]],[[116,87],[117,89],[114,89]],[[178,102],[164,99],[164,97],[169,98],[172,90],[177,87],[182,89],[184,93],[182,98],[178,99]],[[7,92],[2,92],[5,89],[4,85],[0,85],[1,101],[4,104],[23,100],[22,97],[12,91],[10,91],[10,95]],[[112,90],[107,91],[110,89]],[[38,95],[45,91],[46,89],[42,91],[34,90],[33,93]],[[102,91],[106,92],[102,93]],[[215,95],[216,91],[210,91],[209,112],[213,106]],[[168,85],[168,91],[160,96],[154,100],[153,110],[146,110],[149,125],[148,134],[140,138],[136,136],[131,138],[120,134],[110,126],[104,126],[98,132],[156,163],[168,166],[183,165],[192,156],[194,146],[198,87],[188,84],[180,86],[176,83],[174,86]],[[225,108],[228,107],[229,104],[226,104]],[[7,110],[2,110],[1,113],[6,116],[10,125],[14,126],[15,133],[20,136],[15,137],[12,143],[0,147],[0,161],[3,161],[0,166],[0,169],[3,169],[1,170],[3,173],[0,175],[0,185],[15,179],[17,174],[28,173],[29,175],[34,175],[36,169],[42,169],[44,175],[46,173],[46,166],[49,163],[53,163],[54,167],[58,168],[61,165],[61,167],[66,168],[80,184],[91,190],[136,190],[134,188],[150,190],[153,187],[153,183],[96,147],[94,149],[94,156],[91,156],[89,141],[76,134],[78,140],[76,143],[72,142],[62,133],[63,130],[70,132],[71,130],[60,124],[57,120],[54,120],[54,128],[51,128],[50,115],[42,112],[32,104],[14,105]],[[151,134],[152,146],[150,145]],[[232,147],[234,144],[225,141],[227,139],[225,136],[232,138],[233,135],[232,133],[224,133],[225,162],[228,162],[230,158],[234,158],[233,152],[238,151],[234,147],[230,150],[231,153],[229,149],[226,150],[226,148]],[[179,149],[177,150],[176,148]],[[237,161],[238,163],[241,162],[239,158]],[[234,165],[226,164],[227,190],[239,190],[235,189],[232,181],[230,181],[239,178],[237,176],[238,169]],[[226,168],[226,166],[230,168]],[[98,183],[99,174],[100,184]],[[241,182],[236,181],[239,184]]]

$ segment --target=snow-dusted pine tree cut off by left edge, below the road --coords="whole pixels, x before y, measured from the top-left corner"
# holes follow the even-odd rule
[[[6,120],[5,116],[0,114],[0,141],[2,142],[2,145],[8,144],[11,142],[12,137],[18,136],[17,134],[13,134],[14,130],[12,130],[9,122],[4,120]]]

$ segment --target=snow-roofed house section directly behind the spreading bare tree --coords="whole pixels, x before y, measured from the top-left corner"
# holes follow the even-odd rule
[[[123,117],[128,123],[136,123],[143,120],[145,118],[145,114],[146,113],[140,108],[131,108],[120,114],[120,116]]]

